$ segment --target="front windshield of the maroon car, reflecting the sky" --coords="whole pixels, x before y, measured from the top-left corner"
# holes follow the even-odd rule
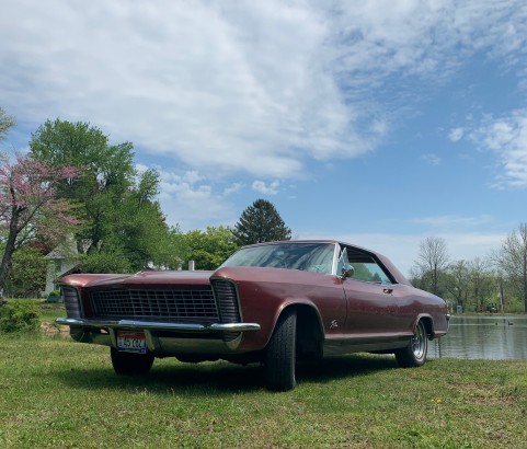
[[[221,267],[260,266],[331,274],[334,251],[333,243],[277,243],[248,246],[234,253]]]

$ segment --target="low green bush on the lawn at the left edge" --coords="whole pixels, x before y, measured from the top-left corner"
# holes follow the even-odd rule
[[[14,301],[0,306],[0,333],[37,332],[41,309],[36,302]]]

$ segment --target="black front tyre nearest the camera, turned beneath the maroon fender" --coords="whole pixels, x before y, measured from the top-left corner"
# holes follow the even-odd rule
[[[276,323],[265,349],[265,384],[274,391],[293,390],[296,385],[297,313],[286,310]]]

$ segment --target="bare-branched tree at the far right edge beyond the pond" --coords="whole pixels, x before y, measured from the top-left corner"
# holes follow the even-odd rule
[[[494,261],[523,298],[527,313],[527,223],[520,223],[517,231],[507,235]]]

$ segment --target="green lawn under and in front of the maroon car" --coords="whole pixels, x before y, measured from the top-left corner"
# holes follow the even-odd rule
[[[45,318],[55,311],[44,311]],[[2,448],[520,448],[527,362],[355,355],[300,366],[287,393],[257,366],[157,359],[114,375],[108,348],[0,336]]]

